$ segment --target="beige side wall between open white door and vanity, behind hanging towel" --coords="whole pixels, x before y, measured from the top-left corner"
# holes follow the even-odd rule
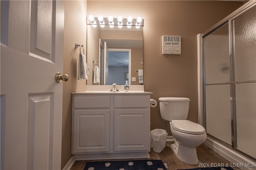
[[[86,47],[86,1],[64,1],[64,66],[63,73],[70,80],[63,83],[63,115],[62,115],[62,157],[63,168],[71,158],[71,121],[72,121],[72,92],[85,90],[86,80],[77,80],[79,48],[75,42]],[[85,49],[86,52],[86,49]]]

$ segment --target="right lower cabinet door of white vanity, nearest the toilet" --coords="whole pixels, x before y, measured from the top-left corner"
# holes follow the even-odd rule
[[[148,109],[114,110],[114,151],[149,150]]]

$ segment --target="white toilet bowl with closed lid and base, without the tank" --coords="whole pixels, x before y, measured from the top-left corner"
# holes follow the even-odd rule
[[[171,149],[176,157],[186,164],[197,164],[196,147],[206,140],[204,127],[188,120],[173,120],[170,127],[174,137]]]

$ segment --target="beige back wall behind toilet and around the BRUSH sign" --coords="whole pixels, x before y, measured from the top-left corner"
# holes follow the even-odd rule
[[[190,98],[188,119],[198,122],[196,35],[243,5],[226,1],[87,1],[87,15],[144,19],[144,88],[151,98]],[[217,10],[218,9],[218,10]],[[181,55],[162,55],[162,35],[181,36]],[[151,129],[165,129],[159,104],[151,108]],[[170,129],[170,127],[168,127]],[[169,135],[171,135],[168,130]]]

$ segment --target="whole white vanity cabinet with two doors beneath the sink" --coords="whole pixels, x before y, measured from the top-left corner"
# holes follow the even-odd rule
[[[148,158],[150,94],[72,93],[72,154],[81,160]]]

